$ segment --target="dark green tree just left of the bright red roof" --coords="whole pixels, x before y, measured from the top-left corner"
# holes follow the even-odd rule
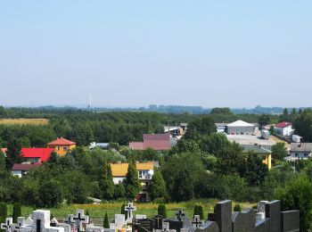
[[[21,163],[23,161],[21,157],[21,145],[18,143],[16,138],[13,138],[6,151],[6,169],[12,170],[14,163]]]

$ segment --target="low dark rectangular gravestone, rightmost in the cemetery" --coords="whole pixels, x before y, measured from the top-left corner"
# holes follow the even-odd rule
[[[300,211],[281,211],[282,232],[300,231]]]

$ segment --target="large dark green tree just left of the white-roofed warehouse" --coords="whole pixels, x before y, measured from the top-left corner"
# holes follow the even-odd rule
[[[191,121],[187,126],[185,138],[196,140],[201,136],[209,136],[213,132],[217,132],[215,120],[207,116]]]

